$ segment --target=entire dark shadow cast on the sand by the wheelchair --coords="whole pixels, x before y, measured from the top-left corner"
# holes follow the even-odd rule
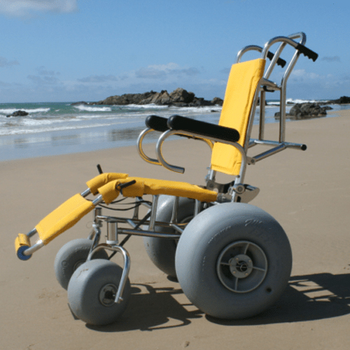
[[[205,316],[220,325],[263,325],[332,318],[350,314],[350,274],[310,274],[293,276],[274,306],[262,314],[243,320],[224,321]],[[153,288],[132,284],[130,304],[120,321],[87,328],[99,332],[162,330],[189,325],[204,313],[188,302],[181,288]]]

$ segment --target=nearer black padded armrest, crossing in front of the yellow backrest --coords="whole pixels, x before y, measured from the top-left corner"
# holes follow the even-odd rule
[[[195,132],[196,134],[200,134],[202,137],[214,137],[216,139],[231,142],[237,142],[239,140],[239,132],[235,129],[186,117],[171,116],[168,119],[167,125],[172,130]]]

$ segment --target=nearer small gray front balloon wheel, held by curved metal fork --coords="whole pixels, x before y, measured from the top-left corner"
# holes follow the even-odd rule
[[[80,265],[71,276],[68,300],[73,314],[91,325],[108,325],[118,321],[130,299],[127,279],[123,301],[116,303],[123,269],[115,262],[94,259]]]

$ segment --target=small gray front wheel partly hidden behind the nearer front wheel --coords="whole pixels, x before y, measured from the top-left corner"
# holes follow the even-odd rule
[[[55,274],[57,281],[64,288],[68,288],[69,280],[73,272],[82,265],[90,253],[92,241],[87,238],[73,239],[59,249],[55,258]],[[104,250],[97,251],[94,259],[107,259],[108,254]]]

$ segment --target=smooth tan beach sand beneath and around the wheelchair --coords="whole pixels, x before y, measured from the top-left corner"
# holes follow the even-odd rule
[[[126,245],[133,295],[120,321],[90,327],[75,320],[53,261],[66,241],[87,236],[90,215],[27,262],[15,256],[17,233],[85,190],[97,163],[104,172],[202,184],[209,165],[204,144],[169,141],[166,158],[185,165],[183,175],[148,165],[136,148],[1,162],[0,349],[349,349],[350,113],[338,114],[288,122],[287,141],[307,144],[307,151],[286,150],[248,167],[246,183],[260,188],[251,204],[286,230],[293,272],[274,307],[243,321],[217,321],[193,307],[179,284],[153,266],[140,237]],[[276,130],[267,125],[267,136]]]

